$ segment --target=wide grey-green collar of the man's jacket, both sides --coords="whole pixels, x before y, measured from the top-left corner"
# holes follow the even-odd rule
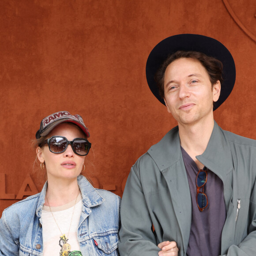
[[[161,172],[179,161],[181,159],[181,143],[178,126],[170,130],[147,152],[154,159]],[[216,122],[206,150],[196,158],[220,177],[223,176],[223,172],[228,173],[233,168],[231,150],[226,136]]]

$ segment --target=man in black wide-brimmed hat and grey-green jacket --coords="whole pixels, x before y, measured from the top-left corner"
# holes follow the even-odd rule
[[[120,255],[256,255],[256,141],[213,118],[235,82],[230,52],[213,38],[172,36],[154,47],[146,74],[178,126],[132,166]]]

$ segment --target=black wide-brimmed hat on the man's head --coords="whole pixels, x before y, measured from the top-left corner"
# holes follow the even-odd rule
[[[158,93],[158,87],[154,75],[162,63],[172,53],[178,50],[196,51],[214,57],[223,64],[221,93],[214,109],[217,109],[230,95],[236,80],[236,67],[229,50],[214,38],[198,34],[178,34],[162,40],[151,51],[147,58],[146,76],[147,83],[154,96],[165,105],[165,102]]]

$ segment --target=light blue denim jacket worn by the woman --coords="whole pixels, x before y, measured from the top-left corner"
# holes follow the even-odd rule
[[[95,189],[83,176],[77,178],[83,209],[77,239],[83,256],[118,255],[120,197]],[[41,211],[47,182],[42,191],[4,210],[0,219],[0,255],[43,255]]]

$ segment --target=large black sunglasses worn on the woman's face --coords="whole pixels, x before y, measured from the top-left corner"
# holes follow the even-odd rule
[[[91,143],[87,139],[75,138],[72,141],[69,141],[63,136],[52,136],[51,138],[46,139],[45,143],[48,144],[49,150],[55,154],[64,152],[69,144],[74,153],[78,155],[87,155],[91,147]]]

